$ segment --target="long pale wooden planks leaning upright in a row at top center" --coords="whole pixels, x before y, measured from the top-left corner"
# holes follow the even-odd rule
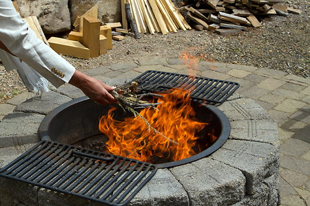
[[[161,32],[162,34],[167,34],[169,32],[178,32],[178,29],[192,29],[171,0],[121,1],[122,10],[125,10],[125,6],[123,5],[126,3],[130,4],[134,22],[140,33],[149,32],[150,34],[154,34],[155,32]],[[125,15],[125,12],[123,12],[123,15]]]

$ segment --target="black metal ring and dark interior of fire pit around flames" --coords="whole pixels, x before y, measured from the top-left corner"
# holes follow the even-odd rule
[[[43,140],[52,140],[63,144],[71,144],[107,152],[105,142],[107,137],[99,130],[99,119],[107,114],[112,107],[117,107],[114,111],[114,118],[122,120],[132,114],[124,113],[123,108],[117,104],[99,105],[88,98],[79,98],[59,106],[49,113],[41,122],[39,136]],[[192,107],[196,112],[195,118],[199,122],[208,123],[198,134],[196,150],[200,148],[196,155],[178,161],[168,161],[157,159],[154,163],[158,168],[169,168],[176,165],[183,165],[203,157],[207,157],[218,150],[229,137],[229,120],[216,106],[192,102]],[[216,137],[215,142],[211,142],[210,134]]]

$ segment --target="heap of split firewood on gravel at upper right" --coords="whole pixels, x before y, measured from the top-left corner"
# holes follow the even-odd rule
[[[236,33],[247,27],[261,27],[267,15],[287,16],[301,10],[289,8],[285,0],[189,0],[181,8],[186,21],[197,30],[218,34]]]

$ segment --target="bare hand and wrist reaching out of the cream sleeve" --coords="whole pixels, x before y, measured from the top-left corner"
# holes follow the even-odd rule
[[[112,91],[115,87],[110,87],[96,78],[85,75],[81,71],[76,70],[69,83],[81,89],[90,100],[99,104],[117,102],[109,93],[109,91]]]

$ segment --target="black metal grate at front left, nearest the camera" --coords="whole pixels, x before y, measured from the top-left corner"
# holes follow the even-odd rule
[[[41,141],[0,170],[0,176],[106,205],[126,205],[156,166],[116,155]]]

